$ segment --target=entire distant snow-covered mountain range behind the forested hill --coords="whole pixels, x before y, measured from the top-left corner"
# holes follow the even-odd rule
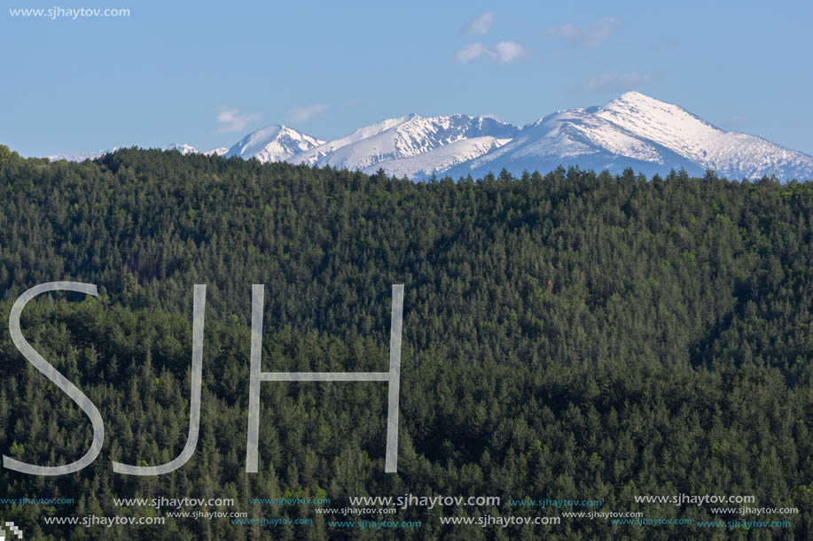
[[[56,154],[51,160],[98,158],[106,152]],[[199,152],[173,143],[167,151]],[[547,172],[557,166],[620,173],[692,175],[714,169],[729,178],[813,179],[813,157],[754,135],[728,132],[639,92],[607,104],[554,112],[516,127],[487,117],[410,114],[383,120],[333,141],[322,141],[282,125],[246,135],[231,148],[208,151],[227,158],[256,158],[310,166],[332,166],[426,179],[432,175],[474,178],[503,168],[512,174]]]

